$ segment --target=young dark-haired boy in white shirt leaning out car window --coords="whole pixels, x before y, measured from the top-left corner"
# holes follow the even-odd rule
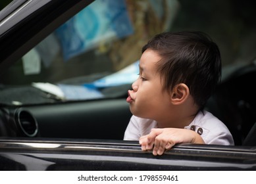
[[[143,48],[140,76],[126,101],[124,140],[161,155],[177,143],[234,145],[228,128],[203,110],[221,77],[218,46],[202,32],[165,32]]]

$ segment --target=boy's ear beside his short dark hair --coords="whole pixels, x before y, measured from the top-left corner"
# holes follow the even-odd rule
[[[170,94],[172,104],[182,104],[190,95],[190,89],[185,83],[175,85]]]

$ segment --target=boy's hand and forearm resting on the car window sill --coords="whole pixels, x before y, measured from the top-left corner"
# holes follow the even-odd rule
[[[142,150],[153,150],[153,155],[161,155],[178,143],[204,144],[201,136],[190,129],[153,128],[140,137]]]

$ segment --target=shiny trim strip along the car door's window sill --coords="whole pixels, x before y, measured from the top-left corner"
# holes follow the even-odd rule
[[[53,143],[54,141],[32,141],[32,142],[25,142],[25,141],[1,141],[0,140],[0,152],[5,150],[13,150],[16,151],[24,150],[40,150],[42,152],[50,151],[64,151],[64,152],[84,152],[84,151],[91,151],[91,152],[132,152],[132,153],[139,153],[145,154],[150,153],[152,151],[142,151],[140,145],[126,145],[126,144],[118,144],[118,143],[97,143],[97,142],[58,142]],[[123,142],[125,143],[125,142]],[[195,156],[200,158],[227,158],[227,159],[236,159],[236,160],[251,160],[251,162],[256,163],[256,152],[254,149],[243,149],[239,150],[234,147],[229,147],[230,149],[213,149],[207,147],[190,147],[190,145],[181,145],[176,146],[171,150],[165,152],[166,156]]]

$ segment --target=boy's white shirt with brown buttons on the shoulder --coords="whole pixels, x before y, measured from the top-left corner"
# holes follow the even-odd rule
[[[155,120],[132,116],[124,133],[124,140],[138,141],[142,135],[150,133],[152,128],[157,128]],[[198,112],[189,126],[184,129],[193,129],[201,135],[205,144],[234,145],[233,137],[228,128],[210,112]]]

